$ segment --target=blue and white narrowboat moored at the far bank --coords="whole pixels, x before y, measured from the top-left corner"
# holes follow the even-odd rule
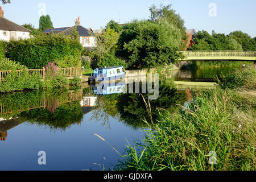
[[[123,77],[125,77],[125,69],[123,67],[96,68],[92,71],[90,80],[109,81]]]

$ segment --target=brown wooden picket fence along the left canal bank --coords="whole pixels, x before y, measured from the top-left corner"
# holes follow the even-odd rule
[[[11,75],[11,70],[9,71],[0,71],[0,81],[5,81],[8,75]],[[23,70],[16,70],[18,75],[21,75]],[[42,79],[46,77],[47,70],[43,69],[28,69],[27,70],[29,75],[33,75],[38,73],[42,76]],[[58,68],[58,72],[65,76],[65,77],[75,77],[75,76],[82,76],[82,68]]]

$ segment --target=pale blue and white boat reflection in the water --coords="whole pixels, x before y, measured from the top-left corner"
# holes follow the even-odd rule
[[[93,94],[105,96],[114,93],[123,93],[125,90],[125,82],[100,82],[100,84],[90,85]]]

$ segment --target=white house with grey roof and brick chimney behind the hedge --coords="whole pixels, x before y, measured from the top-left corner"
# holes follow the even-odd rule
[[[76,19],[75,26],[72,27],[62,27],[62,28],[50,28],[46,29],[44,33],[46,34],[64,34],[71,35],[73,28],[76,27],[76,31],[80,35],[80,43],[86,49],[92,49],[95,46],[95,38],[92,28],[85,28],[80,25],[80,17]]]

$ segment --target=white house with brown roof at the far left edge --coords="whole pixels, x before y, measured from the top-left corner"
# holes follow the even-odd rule
[[[19,26],[3,17],[3,10],[0,7],[0,40],[10,41],[18,39],[29,39],[31,31]]]

